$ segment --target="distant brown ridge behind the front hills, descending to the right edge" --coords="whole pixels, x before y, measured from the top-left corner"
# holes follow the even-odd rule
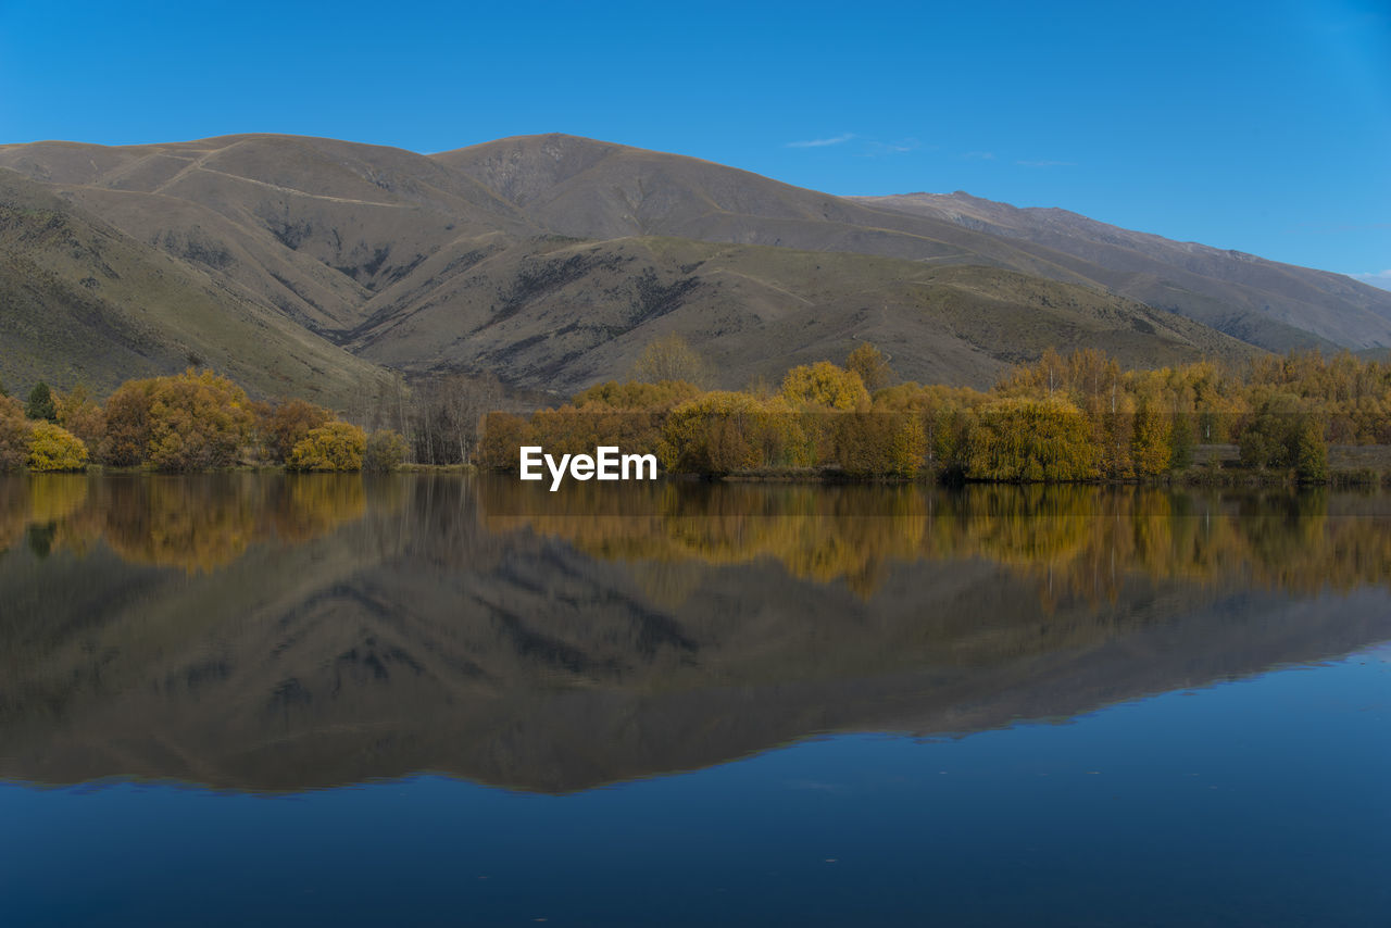
[[[1273,351],[1391,344],[1391,298],[1365,284],[1064,210],[1015,210],[964,193],[837,198],[563,135],[433,157],[566,235],[677,235],[988,264],[1111,289]]]

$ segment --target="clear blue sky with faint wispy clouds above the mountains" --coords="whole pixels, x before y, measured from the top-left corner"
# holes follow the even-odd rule
[[[0,142],[570,132],[1391,285],[1391,3],[17,3]]]

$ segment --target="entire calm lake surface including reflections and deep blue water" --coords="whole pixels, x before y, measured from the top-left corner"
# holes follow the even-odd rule
[[[1391,924],[1391,497],[533,490],[0,479],[0,924]]]

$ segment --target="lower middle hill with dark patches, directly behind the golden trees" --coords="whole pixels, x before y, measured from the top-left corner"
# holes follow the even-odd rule
[[[976,387],[1049,345],[1103,346],[1135,366],[1256,351],[1181,316],[989,267],[625,238],[499,242],[426,269],[453,263],[467,271],[431,275],[399,303],[385,292],[348,346],[392,367],[508,370],[562,394],[626,373],[666,333],[694,335],[739,387],[840,359],[861,339],[889,349],[904,377]]]

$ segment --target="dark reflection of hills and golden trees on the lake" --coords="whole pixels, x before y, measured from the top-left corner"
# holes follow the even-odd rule
[[[1327,491],[0,479],[0,776],[570,792],[1391,639]]]

